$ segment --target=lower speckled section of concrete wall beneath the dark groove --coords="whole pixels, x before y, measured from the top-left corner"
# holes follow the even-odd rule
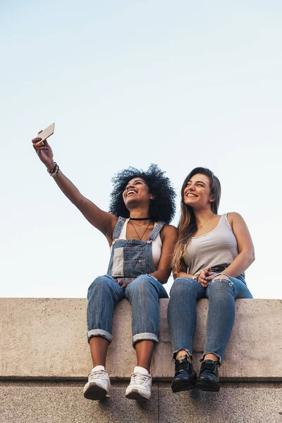
[[[219,393],[173,394],[155,382],[148,403],[125,398],[126,383],[111,398],[85,400],[82,382],[1,382],[1,423],[281,423],[282,385],[223,384]]]

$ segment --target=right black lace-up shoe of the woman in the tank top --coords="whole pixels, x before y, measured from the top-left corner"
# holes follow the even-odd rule
[[[218,361],[206,360],[202,362],[200,374],[196,381],[196,388],[202,389],[202,391],[219,391],[218,366]]]

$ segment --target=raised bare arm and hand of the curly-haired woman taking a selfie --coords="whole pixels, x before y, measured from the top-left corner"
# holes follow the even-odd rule
[[[41,140],[39,137],[32,140],[33,148],[35,152],[37,152],[39,159],[44,163],[48,171],[51,172],[56,167],[53,151],[47,140],[44,141],[43,146],[40,144],[36,145],[39,140]],[[104,212],[90,200],[87,200],[87,198],[80,193],[78,188],[73,185],[71,180],[64,176],[61,171],[54,175],[54,180],[63,194],[68,197],[68,200],[71,200],[75,207],[78,207],[87,221],[106,236],[111,245],[112,233],[118,218],[110,213]]]

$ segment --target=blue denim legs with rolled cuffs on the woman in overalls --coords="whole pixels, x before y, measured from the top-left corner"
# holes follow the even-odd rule
[[[114,309],[126,298],[132,305],[133,346],[138,341],[158,342],[159,298],[168,298],[153,276],[140,275],[123,291],[111,276],[99,276],[88,289],[87,338],[102,336],[112,341]]]

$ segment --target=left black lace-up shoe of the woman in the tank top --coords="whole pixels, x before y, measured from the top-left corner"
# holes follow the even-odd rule
[[[188,356],[185,355],[185,358],[182,360],[174,360],[176,364],[176,374],[171,383],[173,392],[188,391],[188,389],[195,388],[197,374],[187,358]]]

